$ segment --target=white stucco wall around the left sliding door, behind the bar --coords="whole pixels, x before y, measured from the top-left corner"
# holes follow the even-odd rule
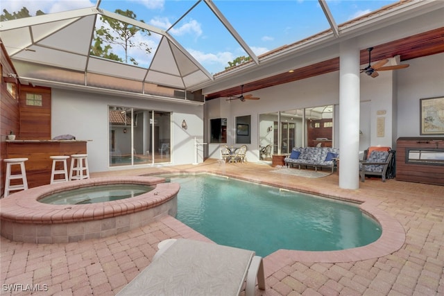
[[[194,137],[198,141],[203,141],[203,106],[199,105],[122,98],[55,88],[52,89],[51,104],[51,137],[73,134],[76,139],[91,140],[87,143],[91,172],[119,169],[108,166],[109,105],[173,112],[171,114],[172,164],[194,162]],[[188,125],[187,130],[182,129],[184,119]],[[128,137],[129,141],[130,132],[122,136]],[[202,151],[198,157],[198,162],[202,162]]]

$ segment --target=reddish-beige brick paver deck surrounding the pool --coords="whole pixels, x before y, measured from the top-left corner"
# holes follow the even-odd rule
[[[145,168],[95,173],[143,175],[167,171],[212,171],[333,197],[368,201],[398,220],[405,233],[399,250],[370,259],[325,262],[316,256],[278,251],[264,259],[266,290],[257,295],[444,295],[444,187],[366,180],[340,189],[338,176],[308,179],[270,173],[264,164]],[[1,209],[0,209],[1,210]],[[144,269],[166,238],[208,241],[169,216],[130,232],[78,243],[16,243],[1,237],[1,295],[114,295]],[[363,254],[366,256],[366,254]],[[36,290],[31,293],[31,290]]]

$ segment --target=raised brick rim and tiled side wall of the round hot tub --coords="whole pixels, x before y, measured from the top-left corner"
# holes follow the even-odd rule
[[[0,200],[0,234],[24,243],[69,243],[112,236],[167,214],[176,216],[180,185],[162,177],[100,177],[44,185]],[[132,198],[94,204],[44,204],[54,193],[105,184],[144,184],[155,189]]]

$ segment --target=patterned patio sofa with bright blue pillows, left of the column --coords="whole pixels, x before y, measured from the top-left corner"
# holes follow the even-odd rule
[[[313,166],[315,171],[318,171],[318,168],[330,168],[333,172],[337,158],[339,158],[339,148],[295,147],[291,150],[291,154],[284,158],[284,162],[287,167]]]

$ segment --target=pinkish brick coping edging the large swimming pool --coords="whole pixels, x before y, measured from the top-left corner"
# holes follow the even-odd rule
[[[193,171],[192,173],[189,171],[171,171],[171,173],[210,173],[219,176],[232,177],[234,179],[245,180],[249,182],[255,182],[259,184],[266,184],[269,186],[275,186],[272,183],[266,182],[257,182],[255,180],[249,180],[248,178],[238,177],[237,175],[230,174],[219,174],[209,171]],[[162,175],[168,174],[162,172]],[[156,175],[148,174],[148,175]],[[160,175],[157,173],[157,175]],[[294,188],[285,188],[293,191],[298,191]],[[343,200],[353,203],[359,203],[359,209],[364,211],[368,216],[374,218],[382,228],[382,234],[377,239],[377,241],[370,243],[368,245],[364,245],[361,247],[354,247],[352,249],[345,250],[336,250],[336,251],[299,251],[299,250],[278,250],[264,257],[264,261],[266,262],[266,273],[268,275],[273,274],[283,268],[286,265],[291,264],[292,262],[314,262],[314,263],[339,263],[339,262],[352,262],[352,261],[363,261],[368,259],[375,259],[382,256],[386,256],[393,252],[400,250],[402,245],[404,245],[406,240],[406,234],[404,231],[404,227],[402,227],[401,223],[396,219],[386,213],[386,211],[379,209],[377,206],[381,203],[379,200],[373,200],[371,198],[366,198],[363,200],[357,197],[348,197],[343,196],[340,193],[334,193],[335,195],[325,195],[318,192],[309,192],[302,191],[305,193],[311,193],[315,195],[321,195],[326,198],[333,198],[336,200]],[[185,238],[196,238],[205,241],[211,241],[209,238],[203,236],[203,234],[199,234],[194,231],[187,225],[181,223],[176,218],[163,218],[162,223],[165,223],[168,227],[175,230],[181,236]]]

